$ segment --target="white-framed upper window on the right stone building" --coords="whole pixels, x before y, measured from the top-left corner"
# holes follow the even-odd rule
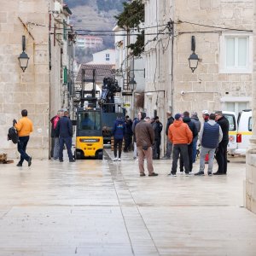
[[[252,52],[252,34],[224,33],[220,38],[220,73],[252,73]]]

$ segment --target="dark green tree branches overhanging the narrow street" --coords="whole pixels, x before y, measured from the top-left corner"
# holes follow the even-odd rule
[[[130,32],[131,28],[137,28],[137,31],[140,32],[136,43],[127,46],[132,50],[132,55],[140,56],[144,51],[144,31],[141,31],[139,27],[144,22],[145,17],[143,0],[125,2],[123,5],[124,11],[114,16],[114,18],[118,20],[118,26],[127,30],[127,32]]]

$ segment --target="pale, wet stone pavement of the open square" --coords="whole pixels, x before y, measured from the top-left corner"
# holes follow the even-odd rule
[[[131,154],[107,153],[1,165],[0,255],[255,255],[245,159],[218,177],[168,177],[171,160],[154,160],[160,176],[139,177]]]

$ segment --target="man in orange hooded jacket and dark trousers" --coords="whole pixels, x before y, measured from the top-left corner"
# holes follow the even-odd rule
[[[183,157],[186,176],[189,175],[189,154],[188,144],[192,143],[193,134],[189,125],[183,123],[182,115],[177,113],[174,122],[169,127],[168,138],[173,144],[172,171],[169,175],[176,176],[177,160],[179,154]]]

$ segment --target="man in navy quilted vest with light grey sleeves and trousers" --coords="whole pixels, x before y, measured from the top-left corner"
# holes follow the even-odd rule
[[[199,134],[199,141],[201,143],[200,168],[199,172],[195,173],[195,175],[204,175],[205,157],[207,154],[209,154],[208,175],[212,175],[214,153],[222,137],[223,133],[220,125],[215,122],[215,114],[211,113],[208,122],[204,123]]]

